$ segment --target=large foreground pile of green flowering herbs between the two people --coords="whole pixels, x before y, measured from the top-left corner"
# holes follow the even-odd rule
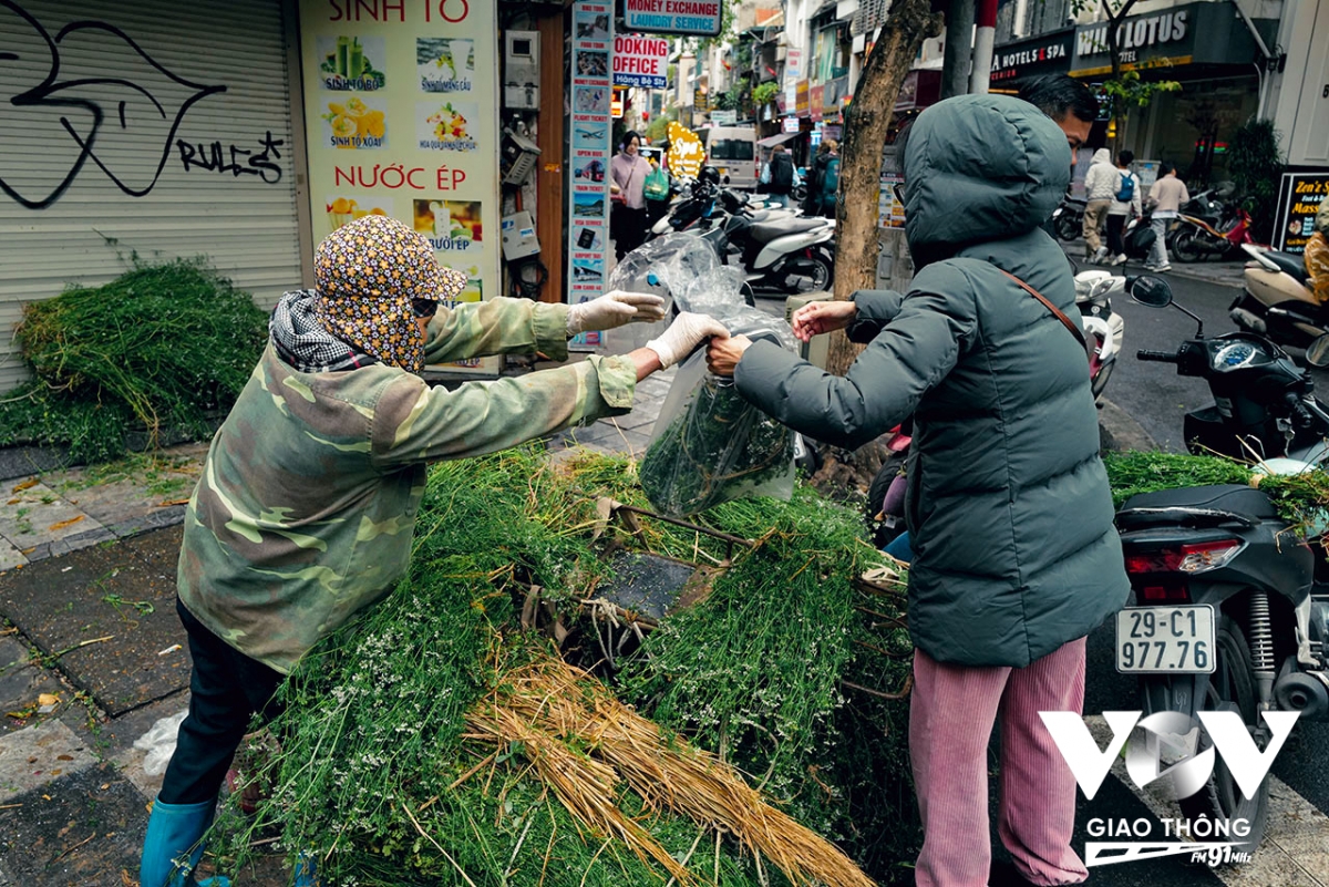
[[[609,578],[606,542],[714,563],[724,543],[641,518],[603,524],[609,497],[645,506],[630,462],[595,454],[554,463],[537,447],[431,470],[409,576],[379,607],[308,656],[271,726],[275,790],[254,819],[229,817],[223,868],[280,830],[294,860],[330,884],[618,887],[664,883],[667,867],[587,827],[538,775],[545,749],[601,762],[581,732],[494,744],[494,700],[550,656],[522,632],[514,599],[530,584],[569,620]],[[752,538],[700,604],[670,616],[619,675],[618,698],[663,736],[748,774],[779,810],[836,839],[878,882],[909,880],[918,829],[908,783],[908,681],[898,578],[853,578],[881,563],[855,513],[805,489],[792,502],[734,502],[704,515]],[[602,690],[586,689],[586,700]],[[544,709],[542,709],[544,710]],[[548,712],[545,712],[548,717]],[[621,718],[619,718],[621,720]],[[615,721],[617,722],[617,721]],[[550,738],[557,745],[549,745]],[[730,834],[643,798],[617,807],[698,883],[791,883]],[[658,801],[658,799],[657,799]],[[654,806],[653,806],[654,805]],[[675,883],[684,883],[675,880]],[[803,882],[807,883],[807,882]]]

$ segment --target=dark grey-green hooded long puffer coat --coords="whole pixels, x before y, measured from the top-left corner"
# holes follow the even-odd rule
[[[739,392],[811,437],[857,447],[914,417],[909,628],[938,661],[1025,667],[1126,603],[1084,349],[1002,274],[1067,316],[1071,270],[1038,226],[1066,190],[1066,137],[1031,105],[962,96],[913,125],[905,296],[856,293],[844,377],[756,343]]]

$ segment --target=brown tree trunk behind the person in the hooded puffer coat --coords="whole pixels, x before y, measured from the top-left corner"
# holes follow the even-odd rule
[[[845,112],[840,143],[840,193],[836,201],[835,297],[848,299],[877,279],[877,194],[881,149],[894,114],[900,85],[926,37],[941,32],[941,16],[929,0],[897,0],[881,28]],[[829,372],[844,372],[859,349],[843,332],[832,333]]]

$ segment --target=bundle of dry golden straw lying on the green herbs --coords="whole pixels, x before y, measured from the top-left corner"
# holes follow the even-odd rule
[[[468,724],[473,738],[498,746],[521,742],[541,778],[575,818],[621,837],[639,856],[653,856],[680,884],[695,879],[645,830],[630,829],[617,809],[618,778],[657,813],[682,814],[734,835],[796,886],[873,887],[837,847],[768,805],[732,767],[678,737],[663,736],[658,725],[619,702],[593,676],[562,660],[540,659],[510,673],[473,709]],[[585,746],[603,764],[575,754],[560,740]],[[617,777],[611,775],[615,771]]]

